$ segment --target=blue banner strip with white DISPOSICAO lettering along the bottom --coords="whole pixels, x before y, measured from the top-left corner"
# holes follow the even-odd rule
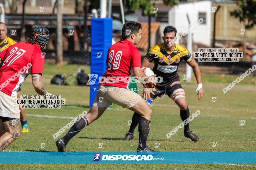
[[[256,152],[0,152],[0,163],[255,164]]]

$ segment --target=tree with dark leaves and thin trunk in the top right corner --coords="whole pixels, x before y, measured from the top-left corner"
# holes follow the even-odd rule
[[[237,0],[237,9],[230,12],[231,16],[239,18],[243,22],[244,29],[249,30],[253,28],[256,23],[256,1],[255,0]],[[243,33],[243,56],[246,57],[246,31]]]

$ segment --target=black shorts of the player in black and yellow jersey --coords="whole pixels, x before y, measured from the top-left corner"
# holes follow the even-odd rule
[[[150,93],[150,98],[154,99],[157,96],[162,96],[164,93],[167,93],[167,95],[170,97],[171,94],[177,90],[177,89],[183,89],[179,79],[176,79],[170,83],[168,83],[168,85],[164,86],[165,88],[163,88],[163,86],[158,86],[156,85],[155,90],[153,91],[154,94]]]

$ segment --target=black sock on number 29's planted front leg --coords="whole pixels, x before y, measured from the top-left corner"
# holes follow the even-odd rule
[[[147,136],[150,130],[150,120],[141,117],[139,122],[139,148],[144,150],[147,147]]]

